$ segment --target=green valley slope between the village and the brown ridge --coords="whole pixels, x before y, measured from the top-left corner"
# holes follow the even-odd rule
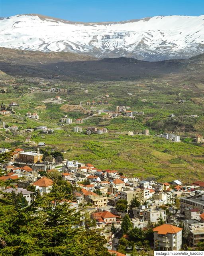
[[[137,81],[96,82],[94,84],[78,82],[55,82],[55,85],[41,85],[29,83],[26,79],[1,75],[4,87],[9,93],[0,94],[0,100],[8,106],[12,101],[19,106],[13,108],[14,114],[0,119],[8,126],[17,125],[17,132],[0,131],[0,147],[14,148],[21,146],[35,149],[38,142],[45,142],[47,146],[62,150],[65,158],[90,162],[99,169],[116,169],[130,176],[140,178],[156,178],[170,181],[180,179],[183,182],[202,179],[204,176],[204,146],[196,144],[193,139],[196,134],[204,134],[204,86],[200,82],[193,85],[186,77],[177,78],[169,75],[163,78],[141,78]],[[6,82],[10,81],[10,82]],[[12,81],[12,83],[11,83]],[[46,82],[46,81],[45,81]],[[11,84],[18,84],[14,89]],[[46,84],[46,83],[45,83]],[[59,87],[67,88],[68,92],[29,92],[28,88]],[[85,93],[84,90],[88,90]],[[128,92],[132,95],[129,96]],[[86,106],[86,101],[102,100],[101,96],[109,94],[108,105]],[[56,95],[61,96],[63,104],[79,104],[87,110],[102,113],[84,120],[82,126],[85,131],[88,126],[106,127],[107,134],[90,135],[72,132],[75,123],[62,126],[59,119],[67,114],[73,119],[85,118],[88,114],[81,111],[65,112],[63,104],[44,103]],[[146,99],[146,102],[142,102]],[[179,100],[185,100],[180,104]],[[110,118],[104,110],[116,111],[116,106],[129,106],[129,110],[143,111],[144,115],[136,115],[134,119],[120,116]],[[27,112],[37,112],[39,120],[26,117]],[[169,114],[175,118],[169,118]],[[198,115],[198,118],[190,115]],[[39,134],[38,131],[26,133],[26,128],[46,125],[55,129],[54,134]],[[133,137],[120,134],[141,132],[149,129],[151,136],[136,135]],[[182,138],[182,142],[173,143],[155,136],[163,132],[174,132]],[[118,134],[117,137],[115,134]],[[4,136],[7,138],[5,138]],[[25,137],[30,136],[36,144],[25,143]],[[12,139],[14,141],[9,140]]]

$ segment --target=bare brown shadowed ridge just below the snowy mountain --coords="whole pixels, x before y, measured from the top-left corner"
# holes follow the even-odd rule
[[[41,77],[66,81],[137,80],[141,76],[188,74],[200,79],[204,54],[188,60],[148,62],[133,58],[96,59],[68,52],[31,52],[2,48],[1,70],[22,77]]]

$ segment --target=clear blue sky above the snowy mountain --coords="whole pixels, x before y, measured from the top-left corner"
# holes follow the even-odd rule
[[[35,13],[81,22],[204,14],[204,0],[1,0],[0,16]]]

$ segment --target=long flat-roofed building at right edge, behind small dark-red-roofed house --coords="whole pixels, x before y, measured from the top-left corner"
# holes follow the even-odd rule
[[[180,212],[185,213],[186,208],[198,208],[200,213],[204,212],[204,196],[190,196],[180,198]]]

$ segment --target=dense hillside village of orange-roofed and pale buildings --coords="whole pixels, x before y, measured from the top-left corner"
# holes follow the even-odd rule
[[[148,250],[181,250],[186,241],[196,249],[204,241],[203,181],[182,184],[180,180],[161,183],[130,178],[120,170],[98,170],[91,163],[63,159],[60,152],[48,160],[39,148],[36,152],[16,148],[2,154],[9,154],[10,159],[0,166],[0,181],[13,185],[1,185],[2,192],[20,193],[30,205],[36,192],[41,196],[50,192],[56,177],[72,184],[75,192],[70,207],[86,212],[80,225],[105,236],[106,247],[114,255],[129,255],[132,232],[146,234],[150,227]],[[31,186],[34,190],[29,191]]]

